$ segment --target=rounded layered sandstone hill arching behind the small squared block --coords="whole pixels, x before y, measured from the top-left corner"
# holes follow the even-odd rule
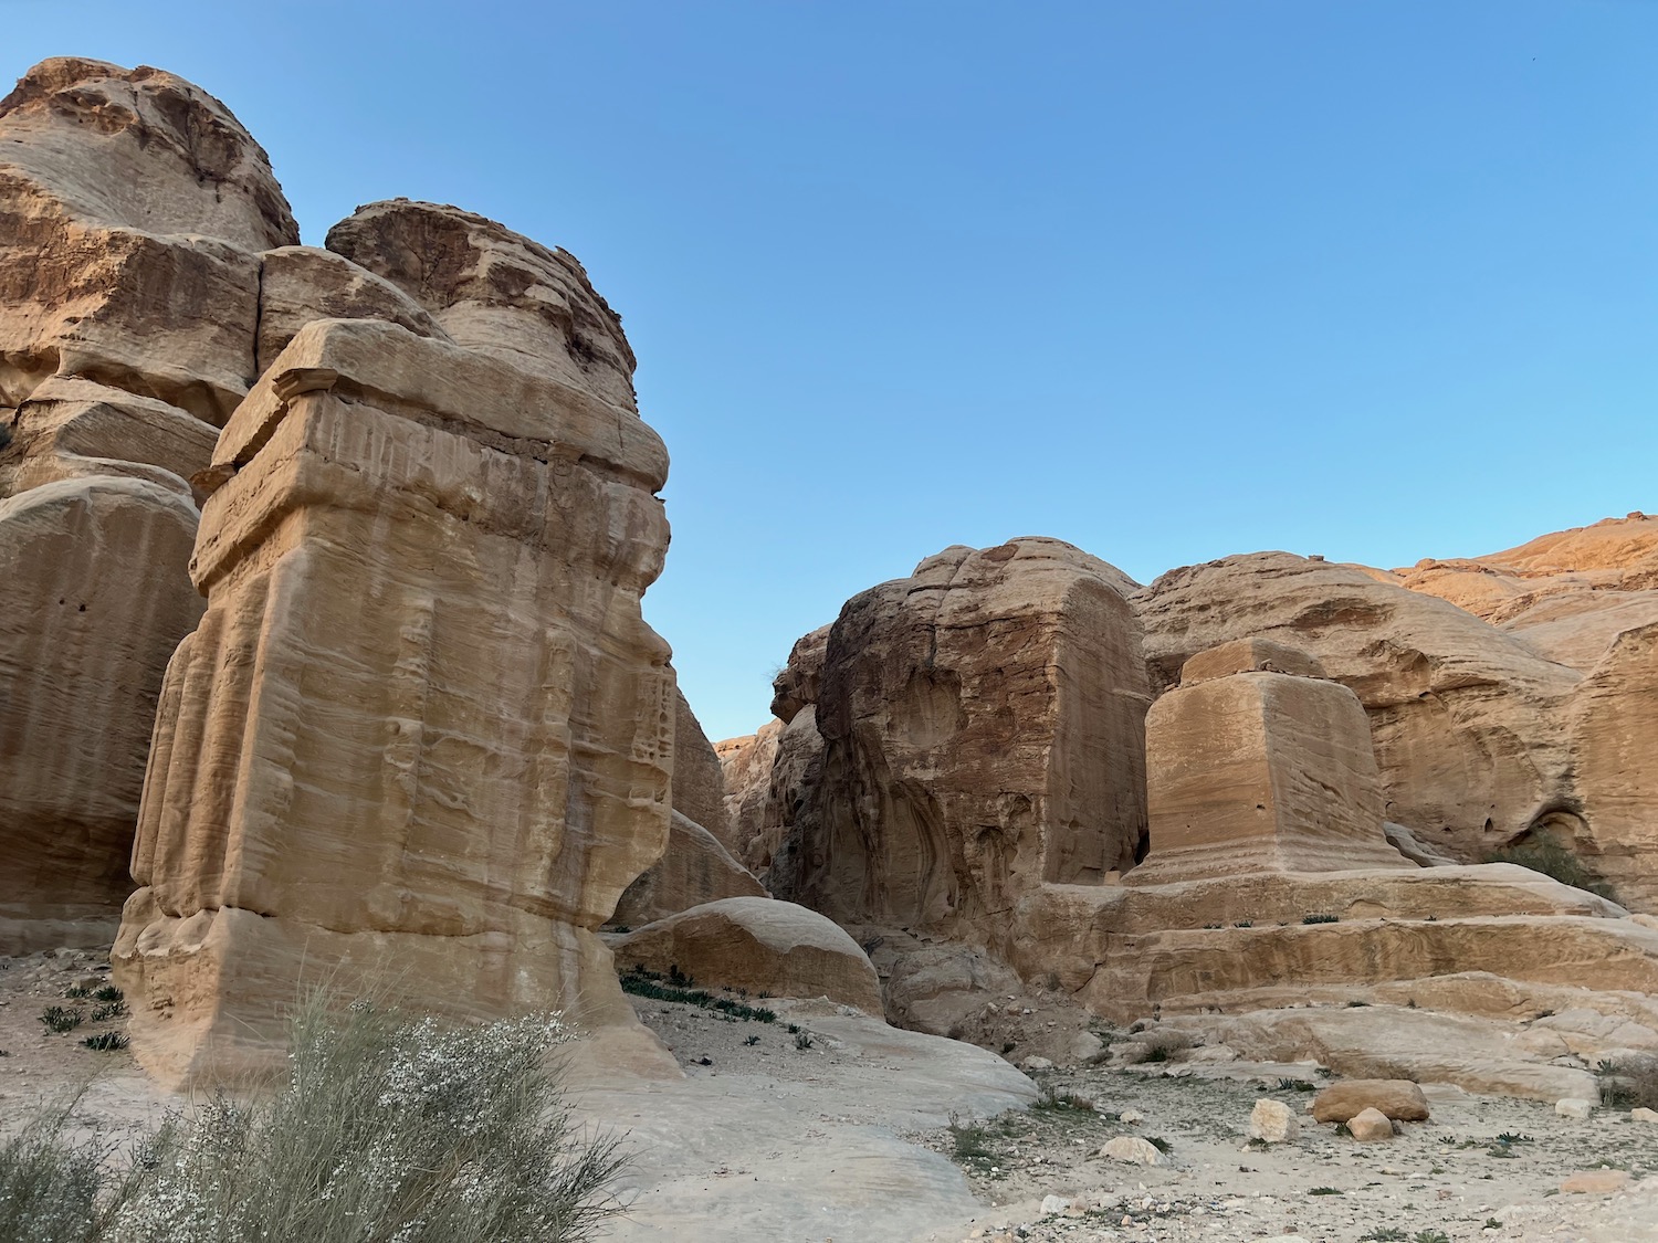
[[[1262,552],[1172,570],[1137,607],[1164,684],[1230,640],[1316,658],[1370,714],[1386,819],[1459,858],[1484,858],[1568,797],[1562,709],[1580,675],[1454,605]]]

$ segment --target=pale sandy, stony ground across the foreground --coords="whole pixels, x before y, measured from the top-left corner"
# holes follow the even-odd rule
[[[81,1046],[119,1031],[118,1018],[66,1034],[40,1023],[48,1006],[90,1016],[99,1003],[65,993],[106,975],[95,953],[0,960],[0,1130],[78,1094],[80,1125],[123,1142],[184,1104],[128,1052]],[[630,1212],[608,1238],[1658,1243],[1658,1124],[1625,1110],[1570,1120],[1547,1104],[1429,1087],[1433,1120],[1389,1142],[1360,1145],[1303,1115],[1295,1144],[1262,1149],[1247,1140],[1253,1102],[1303,1110],[1311,1092],[1280,1081],[1321,1084],[1316,1067],[1026,1077],[975,1046],[822,999],[754,1004],[776,1023],[635,998],[662,1044],[592,1041],[572,1062],[579,1117],[623,1134],[633,1152]],[[1121,1120],[1134,1110],[1137,1122]],[[1161,1140],[1167,1163],[1099,1157],[1114,1135]],[[1628,1172],[1630,1183],[1559,1192],[1567,1175],[1598,1167]]]

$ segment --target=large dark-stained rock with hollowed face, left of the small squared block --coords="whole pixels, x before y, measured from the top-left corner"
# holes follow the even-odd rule
[[[988,926],[1043,882],[1131,867],[1147,703],[1131,588],[1021,539],[849,600],[816,703],[821,777],[791,830],[801,900],[842,921]]]

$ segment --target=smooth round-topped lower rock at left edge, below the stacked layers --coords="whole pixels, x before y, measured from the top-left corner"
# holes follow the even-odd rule
[[[141,479],[0,501],[0,955],[113,936],[196,507]],[[134,602],[139,607],[134,608]]]

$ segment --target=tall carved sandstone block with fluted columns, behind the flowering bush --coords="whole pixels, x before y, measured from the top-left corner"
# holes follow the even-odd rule
[[[668,834],[665,476],[632,411],[405,328],[282,351],[214,452],[149,761],[114,951],[148,1067],[264,1066],[335,963],[627,1014],[592,930]]]

